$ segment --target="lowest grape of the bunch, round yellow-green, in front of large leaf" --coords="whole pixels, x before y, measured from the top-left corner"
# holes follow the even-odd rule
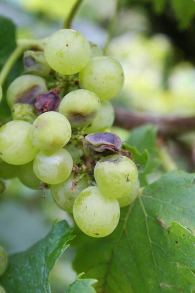
[[[73,206],[74,219],[85,234],[105,237],[117,227],[120,208],[116,199],[105,197],[97,186],[84,189]]]

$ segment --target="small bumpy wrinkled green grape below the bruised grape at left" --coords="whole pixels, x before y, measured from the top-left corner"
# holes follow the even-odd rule
[[[36,109],[29,104],[16,103],[12,106],[12,119],[23,120],[33,124],[37,118]]]

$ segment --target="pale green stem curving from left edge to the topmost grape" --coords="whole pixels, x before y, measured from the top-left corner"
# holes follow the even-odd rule
[[[14,66],[14,64],[17,62],[17,60],[20,58],[22,53],[25,50],[30,49],[31,47],[36,47],[38,49],[42,50],[42,45],[44,44],[46,39],[44,40],[18,40],[18,46],[15,48],[15,50],[12,52],[12,54],[7,59],[6,63],[4,64],[3,68],[0,72],[0,85],[3,85],[10,70]]]

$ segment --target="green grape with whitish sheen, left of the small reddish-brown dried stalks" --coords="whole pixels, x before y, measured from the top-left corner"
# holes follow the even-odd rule
[[[47,184],[59,184],[65,181],[73,168],[73,159],[69,152],[60,148],[55,152],[40,150],[34,160],[36,176]]]

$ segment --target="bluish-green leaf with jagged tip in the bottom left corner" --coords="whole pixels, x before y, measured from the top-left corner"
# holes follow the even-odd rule
[[[0,278],[6,293],[51,293],[49,274],[72,240],[72,229],[66,221],[53,225],[42,240],[27,251],[9,257],[7,271]]]

